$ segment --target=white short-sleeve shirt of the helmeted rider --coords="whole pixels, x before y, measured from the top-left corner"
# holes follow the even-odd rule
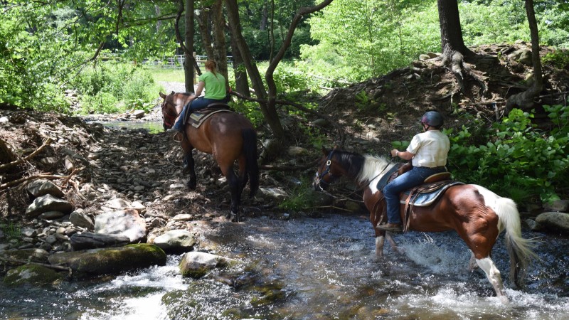
[[[407,151],[415,154],[411,163],[413,166],[446,166],[449,154],[450,141],[446,134],[439,130],[429,130],[415,134]]]

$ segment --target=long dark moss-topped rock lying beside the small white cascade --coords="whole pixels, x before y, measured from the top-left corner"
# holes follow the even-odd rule
[[[70,267],[74,276],[116,274],[129,270],[166,265],[166,253],[156,245],[139,243],[124,247],[110,247],[50,255],[52,265]]]

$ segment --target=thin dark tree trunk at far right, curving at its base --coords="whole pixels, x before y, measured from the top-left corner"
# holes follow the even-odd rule
[[[531,63],[533,65],[533,84],[528,90],[512,95],[506,100],[505,114],[515,107],[521,110],[531,110],[535,107],[535,98],[543,89],[543,75],[541,75],[541,60],[539,57],[539,32],[536,13],[533,11],[533,0],[526,0],[526,14],[528,16],[529,31],[531,35]]]

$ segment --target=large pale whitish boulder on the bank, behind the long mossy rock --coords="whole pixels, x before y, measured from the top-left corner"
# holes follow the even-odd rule
[[[141,242],[147,236],[147,225],[137,210],[113,211],[95,217],[95,233],[126,235],[130,242]]]

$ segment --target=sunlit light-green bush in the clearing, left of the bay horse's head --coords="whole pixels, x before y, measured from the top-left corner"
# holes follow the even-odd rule
[[[82,95],[83,113],[149,111],[160,89],[149,70],[127,63],[100,63],[73,78],[71,85]]]

